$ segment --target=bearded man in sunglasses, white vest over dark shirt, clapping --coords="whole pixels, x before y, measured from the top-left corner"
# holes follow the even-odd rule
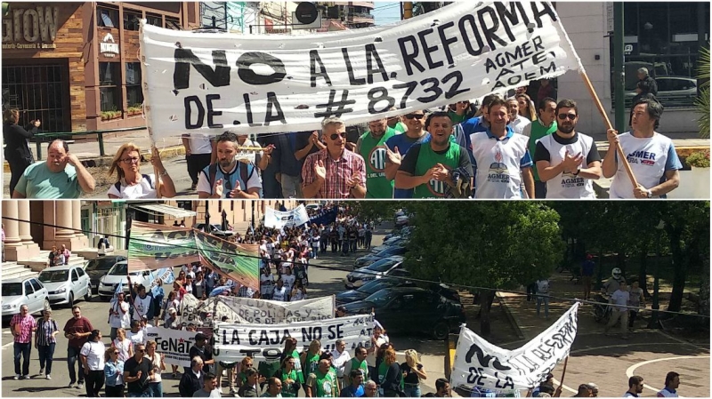
[[[601,178],[601,155],[591,136],[576,132],[578,108],[573,100],[556,105],[554,134],[538,140],[534,151],[546,198],[595,199],[593,180]]]

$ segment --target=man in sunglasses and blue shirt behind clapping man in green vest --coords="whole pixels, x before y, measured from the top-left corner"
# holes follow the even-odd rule
[[[385,147],[387,148],[385,151],[385,178],[388,180],[395,179],[403,157],[408,154],[409,149],[414,144],[430,140],[430,134],[425,132],[425,111],[413,111],[404,117],[408,132],[396,134],[385,141]],[[395,188],[393,190],[393,198],[412,197],[412,188]]]

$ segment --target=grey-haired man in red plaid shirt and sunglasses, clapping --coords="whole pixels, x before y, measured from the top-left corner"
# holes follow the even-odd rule
[[[330,117],[321,123],[327,148],[306,157],[302,168],[304,198],[363,198],[366,164],[346,149],[346,125]]]

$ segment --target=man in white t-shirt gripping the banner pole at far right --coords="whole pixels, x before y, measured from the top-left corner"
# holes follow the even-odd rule
[[[612,129],[606,132],[609,150],[603,158],[603,176],[613,178],[611,198],[664,198],[680,185],[678,171],[683,165],[673,141],[655,132],[661,115],[662,106],[658,101],[642,99],[633,108],[632,132],[620,135]],[[616,150],[619,143],[638,183],[637,188],[619,163]]]

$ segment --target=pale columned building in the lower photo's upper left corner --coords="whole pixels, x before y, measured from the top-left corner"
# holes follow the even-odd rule
[[[53,246],[66,245],[69,251],[93,248],[100,235],[125,235],[122,203],[12,200],[3,201],[2,208],[6,260],[36,258]],[[110,241],[123,247],[121,238]]]

